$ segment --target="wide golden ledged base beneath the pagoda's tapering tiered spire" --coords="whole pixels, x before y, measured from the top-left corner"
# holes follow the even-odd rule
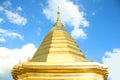
[[[107,80],[106,67],[96,62],[25,62],[12,70],[15,80]]]

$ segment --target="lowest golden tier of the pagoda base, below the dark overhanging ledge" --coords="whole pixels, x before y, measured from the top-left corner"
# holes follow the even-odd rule
[[[45,76],[44,74],[48,75],[48,76]],[[52,76],[50,76],[51,74],[52,74]],[[26,77],[25,77],[25,75],[26,75]],[[103,76],[94,74],[94,73],[81,73],[81,74],[42,73],[42,76],[40,74],[31,74],[31,76],[30,76],[30,74],[28,73],[25,75],[20,75],[18,80],[104,80]]]

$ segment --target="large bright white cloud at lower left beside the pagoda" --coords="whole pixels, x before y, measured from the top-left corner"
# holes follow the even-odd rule
[[[28,43],[20,49],[0,47],[0,79],[9,80],[6,77],[10,77],[11,68],[18,64],[19,60],[22,62],[27,61],[28,57],[31,58],[35,51],[35,45],[32,43]]]

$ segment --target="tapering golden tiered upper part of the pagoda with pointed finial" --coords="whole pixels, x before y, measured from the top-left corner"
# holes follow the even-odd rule
[[[38,50],[31,59],[32,62],[86,62],[86,58],[66,31],[60,21],[60,12],[57,12],[57,21],[46,35]]]

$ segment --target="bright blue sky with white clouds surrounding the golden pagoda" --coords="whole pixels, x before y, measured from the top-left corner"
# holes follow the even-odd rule
[[[7,71],[33,55],[56,21],[58,6],[61,21],[86,58],[102,60],[110,68],[110,80],[118,80],[119,0],[0,0],[0,79],[10,80]]]

